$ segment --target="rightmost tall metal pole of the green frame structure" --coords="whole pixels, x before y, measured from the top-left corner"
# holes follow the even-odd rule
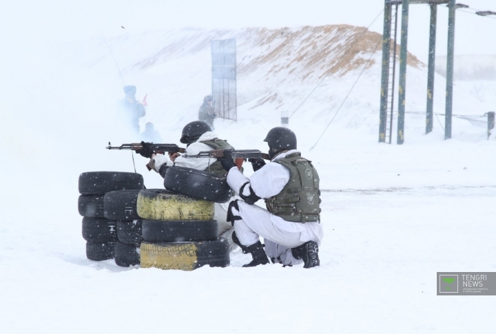
[[[455,0],[449,2],[448,17],[448,55],[446,59],[446,112],[444,113],[444,139],[451,138],[451,121],[453,114],[453,65],[455,62]]]

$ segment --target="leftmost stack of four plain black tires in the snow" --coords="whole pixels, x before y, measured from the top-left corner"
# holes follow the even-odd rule
[[[119,171],[89,171],[79,176],[79,214],[86,257],[94,261],[114,258],[117,220],[105,217],[105,194],[123,189],[143,189],[141,174]]]

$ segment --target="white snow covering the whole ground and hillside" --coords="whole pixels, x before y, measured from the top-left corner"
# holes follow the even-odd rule
[[[238,36],[240,61],[247,52],[260,56],[275,48],[264,44],[270,32],[257,31],[174,30],[105,37],[105,43],[101,37],[40,43],[38,54],[11,54],[21,66],[1,63],[15,78],[1,81],[8,92],[1,96],[0,125],[8,143],[0,178],[1,333],[494,332],[494,297],[437,296],[436,272],[496,271],[496,138],[486,140],[486,129],[454,118],[453,139],[443,140],[442,116],[425,136],[424,115],[407,114],[405,144],[378,144],[380,50],[333,123],[360,66],[329,75],[290,118],[303,156],[316,163],[321,178],[319,268],[243,269],[249,256],[239,252],[231,267],[191,272],[125,269],[85,258],[79,174],[134,171],[130,152],[104,149],[109,140],[136,141],[115,126],[112,110],[123,82],[106,43],[125,83],[136,84],[138,96],[149,94],[143,122],[154,122],[165,142],[177,143],[210,90],[209,38]],[[299,36],[289,45],[296,53],[311,45]],[[256,52],[250,51],[253,40],[260,42]],[[326,39],[318,41],[316,50]],[[167,48],[173,43],[179,45],[174,52]],[[373,48],[365,46],[355,60],[369,59]],[[163,49],[170,51],[165,58],[136,66]],[[240,61],[248,70],[239,79],[238,123],[217,120],[220,138],[237,148],[265,149],[262,140],[279,125],[280,112],[293,112],[333,65],[324,60],[308,80],[302,78],[314,68],[303,63],[297,63],[298,76],[263,75],[273,65],[284,68],[291,56],[251,69]],[[422,111],[426,68],[409,67],[408,80],[407,110]],[[455,114],[495,109],[494,81],[477,81],[484,96],[473,85],[457,81]],[[260,103],[273,92],[278,98]],[[442,76],[435,92],[435,112],[442,113]],[[147,161],[135,161],[145,185],[161,187]]]

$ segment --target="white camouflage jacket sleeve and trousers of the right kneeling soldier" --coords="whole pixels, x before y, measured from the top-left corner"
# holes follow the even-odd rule
[[[270,198],[282,191],[289,182],[291,173],[287,167],[273,161],[285,158],[293,153],[299,153],[296,149],[274,157],[270,163],[258,169],[251,178],[247,178],[240,173],[238,168],[232,167],[227,174],[227,183],[236,194],[242,185],[249,183],[243,189],[243,195],[250,195],[250,187],[256,196],[260,198]],[[298,247],[307,241],[315,241],[320,245],[324,231],[320,222],[289,222],[273,215],[266,209],[257,205],[249,205],[247,202],[238,200],[239,211],[231,207],[235,216],[240,216],[241,220],[234,221],[234,230],[240,243],[250,246],[258,242],[258,237],[262,236],[265,242],[265,253],[269,258],[280,259],[282,264],[300,264],[303,260],[296,260],[291,254],[291,248]]]

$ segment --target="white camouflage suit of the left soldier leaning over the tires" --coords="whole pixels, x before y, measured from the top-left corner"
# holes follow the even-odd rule
[[[205,132],[205,134],[202,134],[195,143],[190,144],[185,149],[185,152],[187,152],[187,154],[194,155],[202,151],[210,151],[212,147],[204,143],[200,143],[200,141],[211,140],[214,138],[218,138],[215,132]],[[157,154],[154,158],[152,158],[152,160],[150,160],[149,166],[152,167],[152,169],[154,169],[157,173],[164,164],[167,166],[176,165],[177,167],[187,167],[203,171],[216,161],[216,158],[183,158],[183,156],[178,156],[174,162],[172,162],[167,155]],[[232,251],[233,249],[238,248],[238,245],[234,244],[232,241],[232,233],[234,229],[232,228],[231,223],[226,222],[227,207],[229,207],[229,202],[215,203],[214,220],[217,220],[218,222],[218,236],[227,239],[229,242],[229,248]]]

